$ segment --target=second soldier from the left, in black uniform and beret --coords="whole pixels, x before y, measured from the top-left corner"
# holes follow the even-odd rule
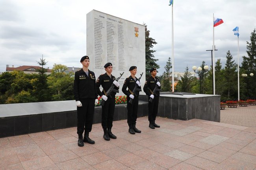
[[[101,117],[101,125],[104,130],[103,138],[106,141],[109,141],[110,138],[117,139],[115,135],[111,132],[111,128],[113,126],[113,117],[115,112],[115,92],[112,91],[111,96],[107,97],[106,92],[111,87],[112,84],[115,84],[115,89],[119,90],[119,83],[115,80],[115,77],[111,75],[113,71],[113,66],[110,62],[105,64],[104,66],[106,73],[102,74],[96,80],[96,88],[97,93],[102,97],[102,100],[106,101],[104,106],[102,106],[102,117]],[[100,85],[103,90],[100,91]]]

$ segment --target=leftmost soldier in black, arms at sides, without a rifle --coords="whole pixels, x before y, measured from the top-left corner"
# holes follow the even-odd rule
[[[75,73],[74,97],[77,106],[77,133],[78,146],[83,146],[83,142],[94,144],[95,141],[89,138],[89,132],[93,125],[93,113],[95,104],[98,103],[98,95],[95,84],[95,74],[88,69],[90,59],[83,56],[80,60],[83,68]],[[84,138],[83,138],[83,130]]]

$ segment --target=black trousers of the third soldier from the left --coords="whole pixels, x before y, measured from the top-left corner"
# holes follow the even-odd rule
[[[127,110],[128,110],[127,123],[129,125],[136,124],[139,98],[134,96],[134,99],[132,100],[132,104],[130,104],[129,101],[130,101],[130,97],[127,96]]]

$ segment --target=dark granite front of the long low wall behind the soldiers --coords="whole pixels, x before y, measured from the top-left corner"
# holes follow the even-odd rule
[[[47,102],[45,102],[45,104],[48,106]],[[13,106],[9,104],[8,107]],[[101,122],[101,111],[101,106],[95,107],[93,124]],[[147,114],[147,102],[141,101],[138,106],[138,117],[146,116]],[[114,121],[124,119],[127,119],[127,105],[117,104],[115,107]],[[30,115],[20,114],[16,116],[0,117],[0,137],[43,132],[75,126],[77,126],[76,110]]]

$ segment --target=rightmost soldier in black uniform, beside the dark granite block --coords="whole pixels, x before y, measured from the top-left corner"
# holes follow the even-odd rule
[[[153,99],[152,102],[148,101],[148,121],[149,126],[151,129],[160,128],[159,125],[155,123],[156,121],[156,115],[158,113],[158,101],[160,93],[159,91],[156,91],[156,94],[152,94],[152,91],[154,90],[156,84],[158,85],[158,88],[160,89],[160,82],[158,78],[156,77],[156,68],[150,69],[151,76],[145,81],[145,85],[143,87],[143,91],[148,95],[148,100],[150,98]]]

